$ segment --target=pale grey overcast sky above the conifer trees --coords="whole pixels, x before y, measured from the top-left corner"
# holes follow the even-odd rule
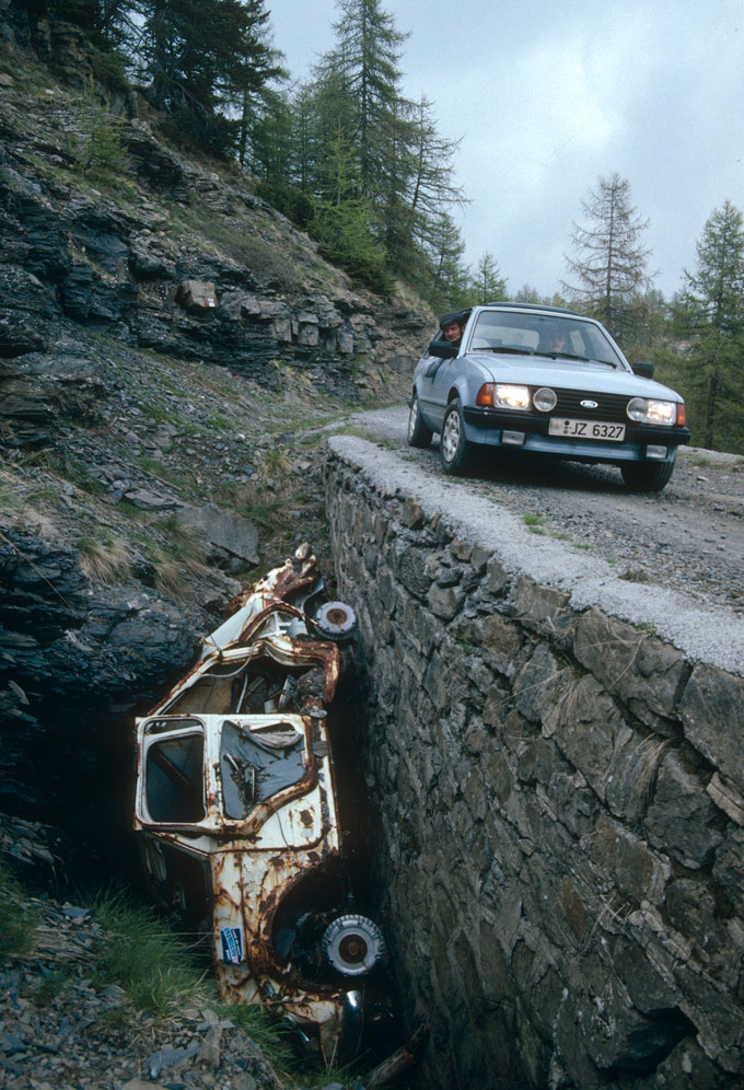
[[[454,210],[475,265],[489,252],[513,294],[566,278],[563,255],[600,176],[628,178],[670,297],[724,200],[744,211],[743,0],[383,0],[403,91],[462,137]],[[334,0],[266,0],[274,44],[306,79],[335,43]]]

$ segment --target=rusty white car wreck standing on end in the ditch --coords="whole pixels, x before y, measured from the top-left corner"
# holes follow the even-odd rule
[[[329,742],[354,630],[301,546],[137,720],[151,892],[211,936],[223,997],[260,1002],[326,1060],[357,1055],[392,1018],[383,936],[349,888]]]

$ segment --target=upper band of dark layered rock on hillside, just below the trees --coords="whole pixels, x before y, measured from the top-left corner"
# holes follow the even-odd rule
[[[70,34],[44,36],[50,57]],[[54,357],[82,327],[274,389],[290,367],[353,398],[409,369],[431,327],[425,309],[357,290],[248,177],[158,139],[136,93],[107,114],[20,58],[0,83],[0,358]],[[68,57],[60,74],[82,82],[81,63]],[[96,125],[125,174],[91,173]]]

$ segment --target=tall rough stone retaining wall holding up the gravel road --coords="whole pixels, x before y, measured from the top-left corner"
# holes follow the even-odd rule
[[[327,510],[417,1086],[741,1087],[744,680],[531,578],[526,527],[505,564],[365,447],[332,442]]]

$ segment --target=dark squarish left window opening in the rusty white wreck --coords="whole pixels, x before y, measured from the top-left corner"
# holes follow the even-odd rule
[[[168,824],[202,821],[204,735],[178,734],[148,746],[146,799],[152,821]]]

